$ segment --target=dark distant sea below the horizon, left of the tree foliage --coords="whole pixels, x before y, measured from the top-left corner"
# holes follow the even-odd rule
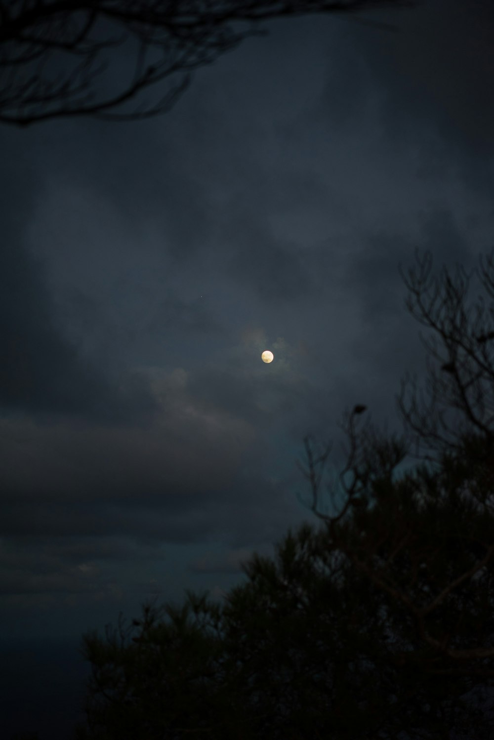
[[[38,732],[39,740],[72,740],[89,662],[80,638],[0,641],[0,737]]]

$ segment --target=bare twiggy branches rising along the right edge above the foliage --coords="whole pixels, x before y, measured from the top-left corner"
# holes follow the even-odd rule
[[[484,260],[480,258],[480,270],[473,269],[470,275],[460,265],[456,274],[443,268],[438,277],[431,277],[432,258],[430,252],[419,258],[416,252],[418,271],[409,269],[405,284],[410,291],[407,309],[423,326],[431,329],[436,337],[421,340],[430,357],[441,363],[437,373],[430,357],[428,394],[429,403],[419,404],[416,379],[413,386],[410,406],[405,404],[405,388],[410,383],[407,374],[402,381],[402,392],[398,399],[399,413],[407,428],[414,433],[417,457],[423,460],[436,460],[441,451],[458,452],[463,445],[463,432],[480,434],[489,456],[493,443],[494,423],[494,364],[493,345],[490,340],[494,332],[490,324],[494,318],[494,304],[490,304],[486,316],[483,297],[467,309],[464,305],[469,283],[474,273],[478,274],[487,295],[494,298],[493,253]],[[437,339],[442,344],[438,349]],[[449,412],[450,420],[445,420]],[[454,415],[453,415],[454,414]],[[419,454],[419,448],[426,448]]]

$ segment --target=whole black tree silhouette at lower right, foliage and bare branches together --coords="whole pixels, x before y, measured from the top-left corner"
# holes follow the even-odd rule
[[[344,415],[347,461],[328,487],[329,515],[319,511],[329,448],[306,437],[319,529],[305,522],[274,560],[243,562],[248,581],[221,604],[186,592],[181,608],[164,608],[168,623],[146,605],[108,645],[84,636],[93,676],[78,740],[492,737],[492,712],[476,706],[494,683],[494,374],[478,341],[492,327],[480,309],[464,318],[465,291],[447,270],[432,301],[410,275],[407,305],[427,309],[419,316],[455,366],[430,366],[427,416],[420,423],[415,396],[405,407],[404,388],[411,436],[360,426],[362,404]],[[490,286],[490,271],[482,277]],[[450,427],[441,403],[461,417]],[[399,476],[414,436],[427,454]]]

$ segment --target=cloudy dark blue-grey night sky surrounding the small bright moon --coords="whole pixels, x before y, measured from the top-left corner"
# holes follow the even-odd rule
[[[355,403],[402,431],[399,264],[494,246],[494,7],[373,17],[266,24],[158,118],[0,128],[4,639],[220,599],[319,526],[305,434],[337,469]]]

